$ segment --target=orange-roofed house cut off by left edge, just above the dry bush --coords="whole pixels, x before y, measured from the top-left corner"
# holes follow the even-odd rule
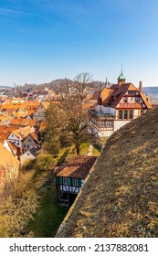
[[[16,178],[19,164],[16,157],[0,143],[0,193],[4,191],[7,183]]]

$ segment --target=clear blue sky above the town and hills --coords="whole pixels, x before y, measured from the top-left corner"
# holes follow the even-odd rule
[[[158,86],[157,0],[0,0],[0,85],[73,79]]]

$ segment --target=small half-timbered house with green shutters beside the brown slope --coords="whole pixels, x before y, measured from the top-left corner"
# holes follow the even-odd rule
[[[55,168],[58,200],[70,206],[83,187],[96,156],[75,156],[67,165]]]

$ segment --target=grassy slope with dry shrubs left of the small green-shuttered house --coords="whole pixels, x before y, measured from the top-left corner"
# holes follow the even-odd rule
[[[87,155],[89,144],[82,144]],[[100,155],[96,149],[94,155]],[[58,155],[40,151],[37,160],[27,163],[17,180],[0,195],[0,237],[54,237],[68,207],[59,206],[53,169],[75,155],[73,148],[63,148]]]

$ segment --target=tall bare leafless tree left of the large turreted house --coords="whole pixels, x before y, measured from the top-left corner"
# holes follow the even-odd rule
[[[80,73],[73,82],[64,80],[60,88],[62,101],[58,103],[56,113],[53,105],[47,112],[51,139],[58,138],[60,145],[73,144],[78,155],[80,145],[90,141],[91,137],[88,133],[89,116],[83,110],[83,104],[88,98],[91,79],[90,74],[85,72]],[[51,139],[49,138],[49,141]]]

